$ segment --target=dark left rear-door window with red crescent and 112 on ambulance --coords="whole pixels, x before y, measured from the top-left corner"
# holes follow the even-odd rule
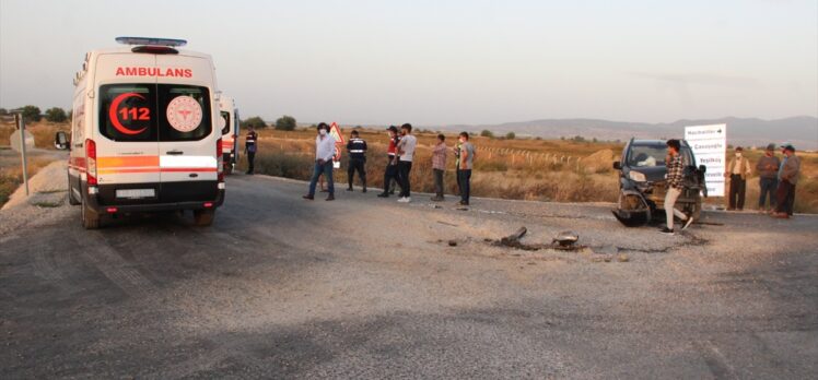
[[[154,84],[100,86],[100,132],[114,141],[156,141]]]

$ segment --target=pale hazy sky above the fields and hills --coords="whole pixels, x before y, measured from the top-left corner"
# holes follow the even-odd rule
[[[269,120],[818,116],[818,0],[0,0],[0,107],[69,108],[126,35],[188,39]]]

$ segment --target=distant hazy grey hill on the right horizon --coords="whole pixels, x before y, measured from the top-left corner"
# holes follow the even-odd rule
[[[799,116],[776,120],[756,118],[678,120],[670,123],[623,122],[597,119],[542,119],[502,124],[446,126],[447,131],[479,132],[488,129],[498,135],[514,132],[517,135],[559,139],[581,135],[585,139],[621,140],[632,136],[644,139],[681,138],[686,126],[727,124],[728,143],[745,146],[766,146],[792,142],[798,150],[818,150],[818,118]]]

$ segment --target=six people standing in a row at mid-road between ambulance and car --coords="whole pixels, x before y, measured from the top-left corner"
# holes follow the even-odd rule
[[[386,152],[386,168],[384,170],[384,191],[377,194],[379,198],[388,198],[395,194],[396,187],[400,188],[398,202],[411,202],[411,170],[412,163],[416,161],[416,151],[418,139],[412,135],[412,126],[405,123],[398,129],[390,126],[386,129],[388,133],[388,147]],[[457,185],[460,190],[460,205],[469,205],[471,193],[471,169],[475,162],[475,145],[469,142],[469,134],[461,132],[458,135],[458,144],[454,149],[446,146],[446,136],[437,135],[437,143],[432,150],[432,169],[434,175],[435,194],[432,201],[440,202],[444,200],[443,178],[446,170],[446,158],[449,152],[454,153],[457,158]],[[335,200],[335,182],[332,180],[332,157],[336,155],[336,141],[329,134],[329,126],[322,122],[317,126],[317,135],[315,138],[315,166],[313,167],[313,177],[309,180],[309,190],[303,198],[306,200],[315,199],[316,186],[323,177],[328,183],[327,201]],[[347,178],[349,186],[347,191],[353,191],[352,183],[354,175],[358,173],[361,178],[362,191],[366,192],[366,151],[369,146],[366,141],[361,139],[359,132],[353,130],[347,142],[347,152],[349,153],[349,167]],[[396,186],[397,185],[397,186]]]

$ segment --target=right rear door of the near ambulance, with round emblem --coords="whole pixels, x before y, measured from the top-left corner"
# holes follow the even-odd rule
[[[201,57],[161,55],[156,68],[160,201],[212,201],[218,190],[219,107],[213,102],[210,61]]]

